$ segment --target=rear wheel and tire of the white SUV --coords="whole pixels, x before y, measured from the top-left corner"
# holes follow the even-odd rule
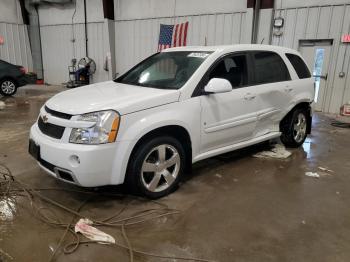
[[[281,141],[286,147],[301,146],[309,130],[308,110],[297,108],[281,122]]]

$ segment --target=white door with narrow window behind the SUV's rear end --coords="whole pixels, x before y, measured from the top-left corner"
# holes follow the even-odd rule
[[[299,51],[315,78],[315,110],[324,109],[329,57],[333,40],[300,40]]]

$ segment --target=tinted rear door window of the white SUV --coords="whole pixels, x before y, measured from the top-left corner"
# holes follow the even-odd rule
[[[255,84],[266,84],[290,80],[287,66],[273,52],[256,52],[254,55]]]

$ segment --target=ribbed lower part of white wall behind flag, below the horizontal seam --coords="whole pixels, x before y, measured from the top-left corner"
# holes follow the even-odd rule
[[[115,21],[116,71],[123,73],[158,46],[159,25],[188,21],[187,45],[249,43],[251,16],[247,12],[202,14]]]

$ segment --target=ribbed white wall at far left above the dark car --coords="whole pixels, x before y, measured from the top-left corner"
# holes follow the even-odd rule
[[[0,45],[0,59],[33,70],[27,26],[0,22],[0,35],[5,40]]]

